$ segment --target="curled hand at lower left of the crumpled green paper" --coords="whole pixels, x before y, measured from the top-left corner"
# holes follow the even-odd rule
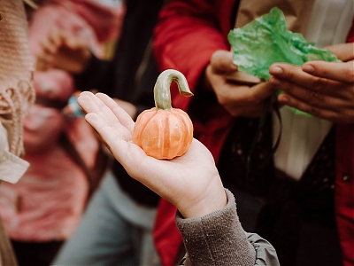
[[[204,80],[214,90],[219,104],[233,116],[258,117],[266,98],[276,91],[269,82],[250,86],[236,84],[227,77],[237,72],[230,51],[215,51],[205,69]]]

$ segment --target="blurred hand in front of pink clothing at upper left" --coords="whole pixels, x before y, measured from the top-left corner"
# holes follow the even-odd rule
[[[78,37],[63,30],[53,30],[42,40],[42,51],[36,55],[36,69],[45,71],[51,67],[80,74],[91,59],[88,45]]]

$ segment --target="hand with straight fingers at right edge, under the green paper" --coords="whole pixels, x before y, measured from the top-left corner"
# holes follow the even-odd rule
[[[281,104],[335,123],[354,122],[353,43],[331,46],[341,63],[310,61],[303,66],[276,63],[269,82],[284,93]]]

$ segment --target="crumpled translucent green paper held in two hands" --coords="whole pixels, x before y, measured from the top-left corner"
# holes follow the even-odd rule
[[[289,31],[284,14],[278,7],[243,27],[232,29],[227,37],[238,69],[266,81],[270,78],[269,67],[275,62],[296,66],[310,60],[340,62],[331,51],[319,49],[315,43],[307,42],[303,35]],[[291,109],[295,113],[309,115]]]

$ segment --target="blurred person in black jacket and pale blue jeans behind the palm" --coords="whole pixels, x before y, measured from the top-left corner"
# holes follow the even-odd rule
[[[164,1],[131,0],[125,4],[112,60],[97,59],[87,45],[58,33],[44,38],[38,66],[73,73],[78,89],[107,93],[136,119],[143,110],[155,106],[158,68],[151,36]],[[65,58],[69,60],[63,63]],[[118,161],[114,160],[110,169],[54,265],[159,264],[152,241],[158,195],[132,179]]]

